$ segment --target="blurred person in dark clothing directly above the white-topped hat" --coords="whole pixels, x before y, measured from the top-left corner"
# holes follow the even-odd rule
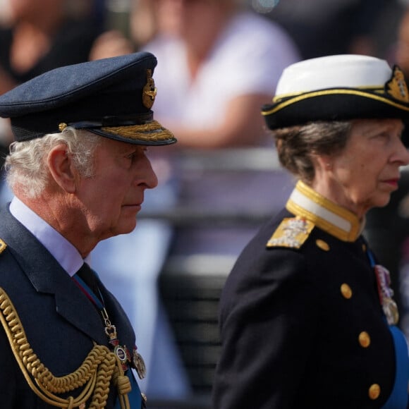
[[[251,1],[256,9],[265,2]],[[267,14],[285,28],[303,59],[331,54],[376,55],[372,37],[386,0],[282,0]],[[268,4],[268,2],[267,2]],[[265,10],[264,10],[265,11]]]

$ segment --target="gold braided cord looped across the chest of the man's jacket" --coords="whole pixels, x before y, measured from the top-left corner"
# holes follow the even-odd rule
[[[130,381],[123,374],[116,355],[106,346],[94,343],[94,347],[78,370],[63,377],[54,377],[30,348],[16,309],[3,288],[0,288],[0,322],[25,380],[42,401],[58,408],[85,408],[85,403],[92,395],[89,408],[104,408],[109,394],[109,384],[113,381],[118,388],[121,409],[130,408],[128,400]],[[73,396],[60,398],[56,395],[82,386],[84,389],[76,398]]]

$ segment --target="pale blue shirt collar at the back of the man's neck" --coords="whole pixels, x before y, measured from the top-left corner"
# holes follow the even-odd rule
[[[71,277],[80,269],[84,262],[80,252],[18,197],[11,200],[10,212],[47,248]]]

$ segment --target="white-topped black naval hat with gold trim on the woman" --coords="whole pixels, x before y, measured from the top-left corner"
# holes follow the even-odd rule
[[[409,119],[403,73],[372,56],[334,55],[288,66],[272,104],[262,107],[270,129],[311,121],[353,118]]]

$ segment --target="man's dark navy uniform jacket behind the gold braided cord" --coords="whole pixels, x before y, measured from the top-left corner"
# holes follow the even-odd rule
[[[0,239],[6,243],[0,245],[0,288],[11,299],[32,352],[54,376],[62,377],[77,370],[94,342],[109,346],[99,311],[8,209],[0,212]],[[99,287],[121,344],[132,351],[135,335],[125,312],[102,283]],[[4,305],[1,307],[0,315],[4,318]],[[70,394],[76,396],[78,392]],[[116,388],[111,387],[106,408],[114,408],[115,399]],[[30,389],[1,325],[0,407],[54,407]]]

